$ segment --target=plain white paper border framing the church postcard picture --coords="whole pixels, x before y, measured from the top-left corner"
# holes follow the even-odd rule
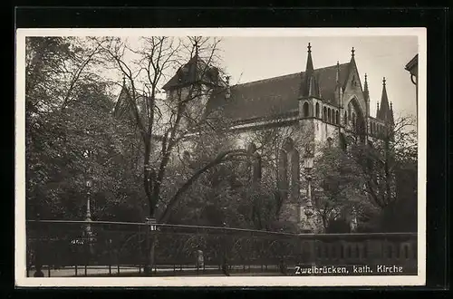
[[[418,275],[414,276],[237,276],[237,277],[26,277],[25,274],[25,36],[377,36],[419,38],[419,200]],[[15,101],[15,285],[16,286],[371,286],[426,283],[426,147],[427,37],[426,28],[159,28],[159,29],[17,29]],[[408,62],[411,57],[408,57]],[[406,63],[406,62],[405,62]],[[408,72],[408,80],[410,73]],[[415,88],[415,87],[414,87]],[[414,99],[415,101],[415,99]]]

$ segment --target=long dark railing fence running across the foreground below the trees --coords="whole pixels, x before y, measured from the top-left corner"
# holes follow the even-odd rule
[[[229,227],[27,221],[27,275],[294,275],[296,265],[400,265],[417,274],[416,234],[287,234]],[[149,268],[149,267],[148,267]],[[38,269],[40,270],[40,269]]]

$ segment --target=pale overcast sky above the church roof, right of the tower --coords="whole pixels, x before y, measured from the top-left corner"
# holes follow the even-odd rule
[[[221,64],[231,75],[231,82],[252,82],[284,74],[303,72],[307,44],[312,44],[314,68],[348,63],[352,47],[363,84],[368,75],[371,116],[381,101],[382,77],[386,78],[389,101],[395,117],[416,114],[416,88],[410,82],[406,63],[418,53],[417,36],[359,37],[223,37]]]

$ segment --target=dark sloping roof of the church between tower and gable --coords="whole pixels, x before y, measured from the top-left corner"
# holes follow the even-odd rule
[[[340,82],[346,82],[350,63],[342,63]],[[313,76],[319,87],[323,101],[335,103],[337,65],[315,69]],[[295,111],[299,107],[298,99],[304,94],[305,72],[296,72],[284,76],[256,82],[247,82],[230,87],[231,96],[225,92],[214,92],[207,102],[207,112],[220,109],[227,118],[235,121],[265,118]]]

